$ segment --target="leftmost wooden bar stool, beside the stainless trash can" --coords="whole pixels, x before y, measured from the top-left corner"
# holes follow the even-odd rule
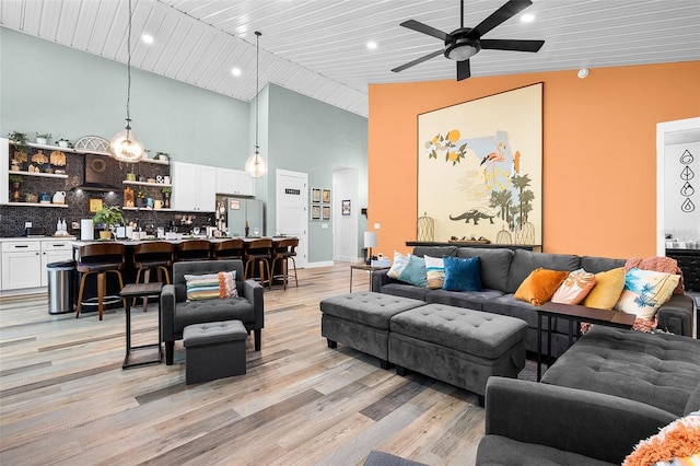
[[[97,273],[97,310],[100,312],[100,321],[104,310],[104,299],[107,290],[107,273],[116,273],[119,278],[119,290],[124,288],[124,280],[119,270],[125,267],[125,246],[124,244],[103,243],[86,244],[80,246],[80,261],[75,266],[75,270],[83,275],[80,280],[80,291],[78,292],[78,307],[75,308],[75,318],[80,317],[80,308],[83,303],[83,292],[85,290],[85,279],[88,276]],[[124,307],[126,308],[126,300]]]

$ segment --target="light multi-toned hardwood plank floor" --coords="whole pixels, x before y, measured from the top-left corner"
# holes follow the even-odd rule
[[[247,374],[185,385],[175,364],[121,369],[124,310],[49,315],[46,295],[0,300],[0,463],[357,465],[381,450],[430,465],[474,464],[476,395],[320,336],[318,302],[348,292],[349,264],[299,270],[265,292],[262,350]],[[368,275],[354,272],[353,288]],[[132,310],[132,345],[158,339],[155,306]]]

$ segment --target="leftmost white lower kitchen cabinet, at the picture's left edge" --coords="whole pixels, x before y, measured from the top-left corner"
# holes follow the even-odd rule
[[[42,243],[2,243],[2,291],[42,286]]]

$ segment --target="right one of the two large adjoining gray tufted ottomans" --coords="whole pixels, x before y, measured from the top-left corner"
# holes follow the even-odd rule
[[[525,366],[527,324],[520,318],[429,304],[392,318],[389,361],[479,395],[491,375],[515,377]]]

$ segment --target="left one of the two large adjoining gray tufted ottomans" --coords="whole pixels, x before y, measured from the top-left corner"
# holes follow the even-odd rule
[[[388,368],[389,319],[425,303],[390,294],[360,291],[327,298],[320,302],[320,335],[328,347],[338,342],[380,359]]]

